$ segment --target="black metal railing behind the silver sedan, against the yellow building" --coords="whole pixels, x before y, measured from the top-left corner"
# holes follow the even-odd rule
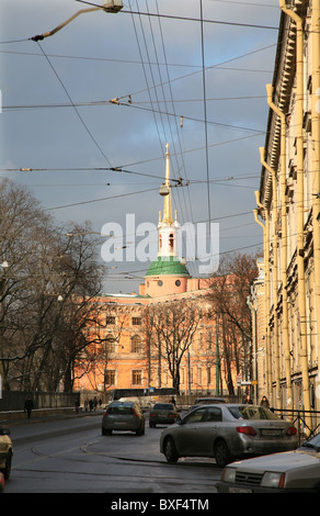
[[[273,408],[282,419],[290,419],[296,426],[299,444],[307,438],[315,437],[320,431],[320,412],[301,410]]]

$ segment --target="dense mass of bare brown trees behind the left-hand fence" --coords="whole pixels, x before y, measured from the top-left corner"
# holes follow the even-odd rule
[[[99,324],[103,267],[90,224],[58,228],[28,192],[0,184],[0,373],[4,389],[70,391]],[[96,317],[96,321],[93,321]]]

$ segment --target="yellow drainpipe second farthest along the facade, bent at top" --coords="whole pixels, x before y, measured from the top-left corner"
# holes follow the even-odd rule
[[[260,147],[261,165],[272,175],[272,192],[273,192],[273,352],[275,366],[275,408],[279,407],[279,345],[278,345],[278,316],[277,316],[277,295],[278,295],[278,256],[277,256],[277,236],[276,236],[276,218],[277,218],[277,190],[275,171],[264,160],[264,147]]]

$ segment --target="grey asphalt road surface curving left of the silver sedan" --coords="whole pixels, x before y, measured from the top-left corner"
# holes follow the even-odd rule
[[[14,446],[5,493],[216,493],[213,459],[168,464],[159,451],[161,427],[146,434],[101,434],[102,414],[25,420],[12,425]]]

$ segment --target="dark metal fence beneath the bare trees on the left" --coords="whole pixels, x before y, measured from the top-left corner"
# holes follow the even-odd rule
[[[2,391],[0,412],[23,411],[27,396],[35,408],[60,408],[73,407],[79,393]]]

